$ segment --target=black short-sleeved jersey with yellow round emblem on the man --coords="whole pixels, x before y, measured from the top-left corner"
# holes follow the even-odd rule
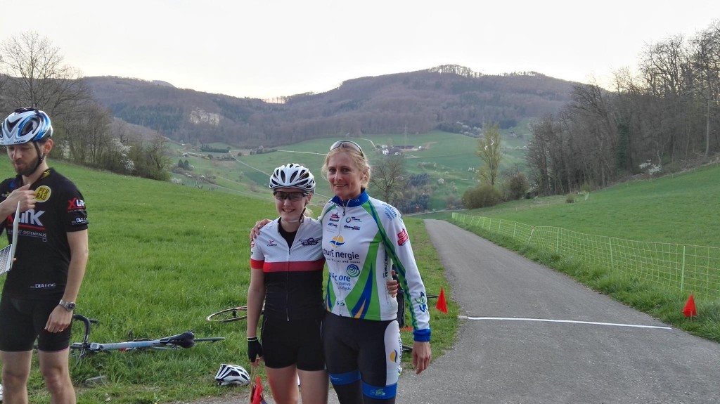
[[[0,202],[22,186],[22,177],[0,183]],[[7,273],[3,295],[16,298],[61,298],[70,265],[67,233],[88,228],[85,200],[76,186],[49,168],[30,186],[35,208],[20,213],[17,247],[12,270]],[[8,242],[12,241],[14,214],[4,218]]]

